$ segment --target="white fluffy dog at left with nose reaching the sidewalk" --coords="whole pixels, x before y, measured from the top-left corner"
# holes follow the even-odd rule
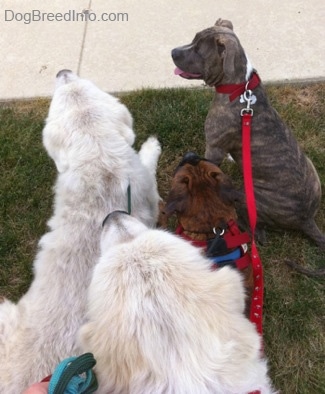
[[[17,305],[0,304],[0,393],[19,394],[76,354],[103,218],[127,209],[155,225],[160,145],[149,138],[139,156],[127,108],[91,82],[62,70],[56,78],[43,142],[55,161],[54,214],[39,242],[34,280]]]

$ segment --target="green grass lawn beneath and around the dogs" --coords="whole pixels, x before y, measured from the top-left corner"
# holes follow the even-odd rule
[[[267,87],[325,187],[325,83]],[[158,184],[166,197],[171,176],[189,150],[204,154],[210,89],[143,90],[123,95],[137,133],[136,147],[156,134],[163,153]],[[41,142],[48,100],[0,106],[0,298],[17,300],[32,279],[37,242],[51,215],[55,169]],[[234,164],[223,164],[235,181]],[[317,215],[325,231],[325,198]],[[275,387],[285,394],[325,393],[324,279],[302,276],[286,258],[316,269],[325,254],[297,232],[268,231],[259,246],[265,272],[264,342]]]

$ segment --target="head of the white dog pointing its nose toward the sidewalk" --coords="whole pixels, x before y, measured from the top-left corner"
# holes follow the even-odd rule
[[[99,163],[106,147],[134,139],[131,114],[117,98],[70,70],[57,74],[43,144],[59,172]]]

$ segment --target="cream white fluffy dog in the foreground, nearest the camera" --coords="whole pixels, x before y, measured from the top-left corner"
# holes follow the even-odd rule
[[[89,287],[83,351],[98,393],[272,393],[235,270],[122,212],[106,220]]]

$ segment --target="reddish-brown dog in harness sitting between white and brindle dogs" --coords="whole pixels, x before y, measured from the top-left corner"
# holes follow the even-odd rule
[[[240,269],[245,277],[248,315],[253,274],[250,256],[246,253],[246,246],[243,250],[241,242],[249,242],[249,236],[237,227],[235,198],[236,191],[229,177],[212,162],[189,152],[176,168],[163,212],[166,220],[173,214],[177,216],[176,233],[203,247],[215,267],[232,265]],[[237,241],[232,242],[234,239]],[[228,247],[225,247],[224,240]],[[231,243],[236,245],[229,247]]]

